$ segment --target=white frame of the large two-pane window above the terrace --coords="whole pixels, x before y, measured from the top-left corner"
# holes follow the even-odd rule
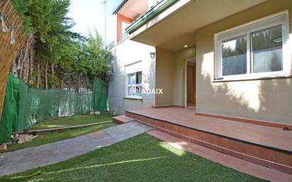
[[[282,41],[283,41],[283,70],[278,72],[261,72],[252,73],[252,52],[250,52],[250,34],[265,28],[271,28],[276,25],[282,25]],[[241,35],[247,36],[247,74],[236,74],[223,76],[222,73],[222,42],[231,38],[236,38]],[[261,18],[251,23],[225,30],[215,34],[215,80],[214,81],[230,81],[230,80],[245,80],[245,79],[266,79],[274,77],[291,76],[291,57],[289,54],[289,25],[288,25],[288,11],[276,13],[274,15]]]

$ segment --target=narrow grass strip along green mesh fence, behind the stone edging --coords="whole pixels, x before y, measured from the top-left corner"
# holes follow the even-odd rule
[[[68,127],[75,125],[86,125],[91,123],[99,123],[103,121],[111,121],[113,115],[104,113],[101,115],[75,115],[66,118],[57,118],[44,120],[40,123],[33,125],[30,130],[42,130],[54,127]]]

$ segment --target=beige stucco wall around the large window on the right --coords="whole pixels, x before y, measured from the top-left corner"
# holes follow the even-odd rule
[[[213,83],[214,34],[286,9],[291,42],[291,0],[267,1],[197,30],[197,112],[292,124],[291,78]]]

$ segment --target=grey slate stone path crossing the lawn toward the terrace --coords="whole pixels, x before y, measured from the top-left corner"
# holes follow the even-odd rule
[[[55,164],[152,130],[135,121],[80,137],[0,154],[0,176]]]

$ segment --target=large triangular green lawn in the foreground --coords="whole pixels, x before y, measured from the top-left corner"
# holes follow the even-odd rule
[[[0,181],[264,181],[147,134]]]

